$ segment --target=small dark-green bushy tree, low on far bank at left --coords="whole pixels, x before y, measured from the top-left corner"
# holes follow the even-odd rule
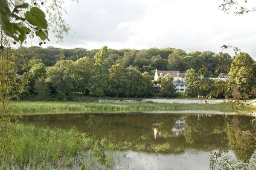
[[[35,80],[34,91],[38,94],[39,100],[47,100],[47,98],[50,96],[51,91],[44,77],[39,77]]]

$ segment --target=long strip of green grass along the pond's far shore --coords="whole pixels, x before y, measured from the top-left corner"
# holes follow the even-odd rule
[[[12,102],[16,114],[58,113],[128,113],[143,111],[186,111],[205,110],[223,112],[246,112],[224,104],[169,104],[169,103],[99,103],[99,102]]]

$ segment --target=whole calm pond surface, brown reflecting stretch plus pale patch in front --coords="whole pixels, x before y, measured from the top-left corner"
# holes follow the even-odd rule
[[[111,114],[56,114],[23,116],[20,122],[33,123],[38,127],[71,128],[75,126],[81,132],[106,137],[115,142],[163,144],[180,147],[182,153],[137,153],[125,151],[118,153],[120,162],[115,169],[129,170],[207,170],[209,169],[209,151],[205,145],[215,149],[227,147],[227,139],[235,139],[239,130],[250,129],[249,116],[220,116],[207,114],[147,114],[118,115]],[[238,153],[230,153],[239,158]],[[249,155],[250,157],[251,155]]]

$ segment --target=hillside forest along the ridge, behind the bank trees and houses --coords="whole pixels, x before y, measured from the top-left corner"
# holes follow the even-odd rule
[[[41,48],[32,46],[29,48],[18,48],[15,52],[18,56],[18,70],[19,74],[28,72],[32,59],[41,59],[45,66],[55,65],[60,60],[76,61],[82,57],[88,57],[94,60],[95,54],[99,49],[87,50],[85,48],[62,49],[47,47]],[[233,58],[227,53],[220,52],[215,54],[211,51],[195,51],[186,53],[186,51],[175,48],[150,48],[150,49],[108,49],[108,61],[110,65],[120,64],[124,68],[133,65],[140,72],[148,72],[151,75],[157,70],[177,70],[186,72],[187,69],[193,68],[195,71],[204,65],[208,70],[204,77],[217,77],[218,73],[214,71],[220,66],[226,67],[230,65]],[[31,64],[30,64],[31,65]],[[218,70],[218,72],[226,73],[226,70]]]

